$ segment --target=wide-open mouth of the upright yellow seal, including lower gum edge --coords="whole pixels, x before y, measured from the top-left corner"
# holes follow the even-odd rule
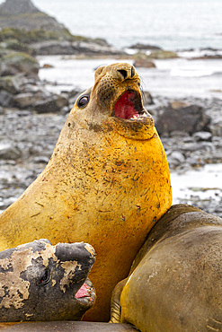
[[[112,116],[130,120],[149,118],[147,109],[143,108],[140,95],[133,90],[124,92],[114,105]]]

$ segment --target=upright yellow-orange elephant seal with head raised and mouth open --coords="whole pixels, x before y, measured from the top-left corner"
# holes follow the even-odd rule
[[[114,286],[172,203],[164,148],[139,85],[134,66],[99,67],[49,164],[0,218],[0,249],[40,238],[93,245],[97,301],[90,320],[109,320]]]

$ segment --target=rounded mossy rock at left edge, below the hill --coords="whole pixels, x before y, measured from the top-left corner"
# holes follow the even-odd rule
[[[12,52],[0,59],[0,74],[13,75],[24,73],[26,76],[37,76],[40,65],[38,61],[23,52]]]

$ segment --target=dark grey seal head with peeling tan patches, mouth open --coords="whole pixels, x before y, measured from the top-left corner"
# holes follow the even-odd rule
[[[0,252],[0,321],[80,320],[95,300],[94,260],[84,242],[35,240]]]

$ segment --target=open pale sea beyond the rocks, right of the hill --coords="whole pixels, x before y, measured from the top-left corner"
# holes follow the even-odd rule
[[[164,49],[222,49],[221,0],[33,0],[77,35],[117,48],[137,42]]]

